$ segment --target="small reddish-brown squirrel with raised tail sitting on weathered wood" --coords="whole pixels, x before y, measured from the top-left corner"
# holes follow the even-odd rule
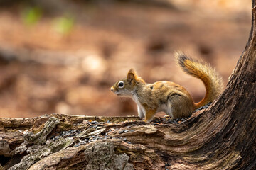
[[[206,96],[200,102],[194,103],[188,91],[174,82],[147,84],[134,69],[130,69],[127,78],[117,81],[110,90],[117,96],[132,98],[137,103],[139,117],[144,118],[145,122],[150,122],[161,111],[174,119],[188,117],[197,108],[213,102],[220,95],[223,81],[205,62],[187,57],[182,52],[176,52],[176,60],[184,72],[201,79],[206,86]]]

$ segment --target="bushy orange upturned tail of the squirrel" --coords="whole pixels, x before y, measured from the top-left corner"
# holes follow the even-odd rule
[[[206,96],[199,103],[195,103],[196,108],[212,102],[220,95],[223,89],[223,81],[209,64],[191,59],[183,52],[176,52],[176,59],[184,72],[201,79],[206,86]]]

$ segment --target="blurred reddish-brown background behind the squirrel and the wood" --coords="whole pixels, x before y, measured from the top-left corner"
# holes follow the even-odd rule
[[[174,62],[183,50],[225,84],[250,33],[250,0],[0,1],[0,117],[137,115],[110,86],[137,69],[195,101],[201,81]]]

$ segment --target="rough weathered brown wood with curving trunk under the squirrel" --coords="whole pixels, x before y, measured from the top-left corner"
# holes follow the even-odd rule
[[[0,169],[256,169],[256,0],[228,86],[187,120],[0,119]]]

